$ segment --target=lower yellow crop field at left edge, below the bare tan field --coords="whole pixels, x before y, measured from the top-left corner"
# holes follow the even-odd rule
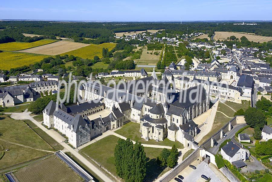
[[[1,52],[0,53],[0,69],[10,70],[23,65],[34,64],[46,58],[46,55],[34,55],[20,52]]]

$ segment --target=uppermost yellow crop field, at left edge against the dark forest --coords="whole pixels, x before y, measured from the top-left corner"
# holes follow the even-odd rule
[[[2,50],[2,51],[18,51],[18,50],[37,47],[37,46],[40,46],[40,45],[49,44],[49,43],[52,43],[52,42],[55,42],[55,41],[56,40],[43,39],[43,40],[31,42],[31,43],[28,43],[28,42],[9,42],[9,43],[0,44],[0,50]]]

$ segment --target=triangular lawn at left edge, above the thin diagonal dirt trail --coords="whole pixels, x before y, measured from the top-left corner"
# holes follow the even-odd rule
[[[10,142],[38,149],[53,150],[53,148],[24,121],[9,118],[7,115],[2,115],[1,117],[0,133],[2,134],[0,138]]]

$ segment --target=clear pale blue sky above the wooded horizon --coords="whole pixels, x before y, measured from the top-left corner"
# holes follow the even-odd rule
[[[271,0],[2,0],[0,3],[0,19],[272,20],[271,12]]]

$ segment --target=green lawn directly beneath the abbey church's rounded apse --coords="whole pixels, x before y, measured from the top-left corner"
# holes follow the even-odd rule
[[[140,129],[140,124],[134,123],[134,122],[129,122],[122,126],[121,129],[116,130],[115,133],[122,135],[124,137],[130,138],[133,141],[139,141],[142,144],[150,144],[150,145],[164,145],[164,146],[170,146],[172,147],[173,144],[176,145],[177,148],[182,149],[183,144],[181,144],[178,141],[170,141],[168,138],[165,138],[164,141],[159,141],[156,142],[155,140],[149,140],[145,141],[144,139],[141,138],[141,133],[139,132]]]

